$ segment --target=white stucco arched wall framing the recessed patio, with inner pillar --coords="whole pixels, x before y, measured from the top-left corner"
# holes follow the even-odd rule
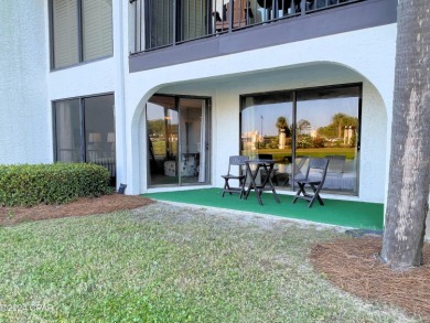
[[[211,96],[213,184],[221,186],[225,157],[238,152],[240,94],[363,82],[358,200],[384,202],[395,39],[396,25],[391,24],[132,73],[126,76],[127,125],[131,137],[144,133],[141,112],[155,90]],[[235,137],[237,140],[233,139]],[[147,149],[142,137],[140,142],[127,144],[128,169],[132,170],[127,181],[130,191],[137,194],[146,191],[141,172]]]

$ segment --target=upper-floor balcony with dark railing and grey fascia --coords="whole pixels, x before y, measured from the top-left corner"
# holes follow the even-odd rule
[[[397,21],[397,0],[130,2],[135,23],[131,73]]]

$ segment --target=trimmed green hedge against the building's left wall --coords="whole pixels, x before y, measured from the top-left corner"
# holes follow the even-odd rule
[[[64,204],[110,193],[107,169],[90,163],[0,165],[0,205]]]

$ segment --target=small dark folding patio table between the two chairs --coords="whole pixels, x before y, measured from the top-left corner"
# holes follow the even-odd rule
[[[271,191],[275,196],[275,201],[280,203],[278,194],[275,190],[273,183],[271,181],[271,174],[273,172],[275,161],[267,159],[256,159],[245,161],[247,174],[249,174],[249,185],[245,194],[245,200],[248,198],[249,192],[254,190],[256,192],[256,197],[258,204],[262,205],[261,194],[265,191]],[[252,170],[254,169],[254,170]],[[266,176],[260,184],[257,184],[256,179],[260,169],[266,171]]]

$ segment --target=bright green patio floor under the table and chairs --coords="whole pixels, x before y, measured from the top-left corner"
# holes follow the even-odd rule
[[[259,205],[254,192],[249,194],[248,200],[240,200],[238,194],[226,194],[225,197],[222,197],[222,189],[202,189],[148,193],[143,196],[158,201],[260,213],[356,229],[383,229],[384,204],[379,203],[330,200],[324,198],[322,194],[325,205],[321,206],[315,202],[311,208],[308,208],[305,201],[298,201],[293,204],[291,195],[278,194],[281,202],[278,204],[271,194],[265,193],[262,195],[264,205]]]

